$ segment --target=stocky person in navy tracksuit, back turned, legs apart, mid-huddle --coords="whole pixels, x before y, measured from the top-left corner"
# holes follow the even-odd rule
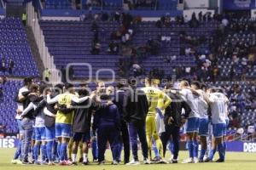
[[[108,94],[102,94],[101,100],[111,101],[111,96]],[[99,148],[98,161],[101,165],[104,161],[104,154],[107,148],[107,142],[109,142],[112,155],[113,164],[117,164],[119,159],[119,132],[120,132],[120,117],[118,107],[114,104],[105,105],[96,110],[93,122],[93,134],[96,134],[97,130],[97,144]]]

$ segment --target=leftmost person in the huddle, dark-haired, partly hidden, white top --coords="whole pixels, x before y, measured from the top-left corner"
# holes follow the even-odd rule
[[[16,119],[16,122],[18,123],[18,127],[19,127],[19,144],[18,144],[18,147],[15,151],[15,156],[14,156],[13,160],[11,161],[14,164],[16,164],[16,163],[21,164],[22,163],[20,161],[20,159],[21,159],[21,144],[22,144],[22,139],[23,139],[23,131],[21,129],[21,116],[20,116],[20,114],[24,110],[23,105],[25,105],[24,103],[25,103],[25,99],[26,99],[26,97],[24,97],[22,95],[22,93],[28,91],[28,89],[32,85],[32,78],[26,77],[23,82],[24,82],[24,87],[19,89],[19,92],[18,92],[18,94],[16,96],[16,99],[15,99],[15,101],[17,102],[17,106],[18,106],[18,108],[16,110],[17,114],[15,116],[15,119]]]

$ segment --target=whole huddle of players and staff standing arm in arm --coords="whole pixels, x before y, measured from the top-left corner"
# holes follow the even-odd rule
[[[159,85],[153,77],[145,78],[144,88],[137,88],[136,79],[116,87],[96,82],[96,90],[90,92],[85,83],[53,87],[25,78],[15,96],[20,142],[12,163],[88,165],[91,148],[91,161],[102,165],[109,146],[113,165],[138,165],[138,144],[143,164],[177,163],[182,127],[189,150],[183,163],[213,161],[217,150],[217,162],[224,162],[227,97],[201,82],[167,83],[164,89]],[[212,144],[207,149],[209,137]],[[167,146],[172,153],[168,161]]]

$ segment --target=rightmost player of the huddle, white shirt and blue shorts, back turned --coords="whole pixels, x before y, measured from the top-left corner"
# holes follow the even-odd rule
[[[212,150],[206,161],[212,161],[218,148],[219,159],[216,162],[224,162],[224,131],[226,128],[226,106],[229,99],[224,94],[216,92],[214,88],[209,90],[209,103],[212,113],[212,127],[214,142]]]

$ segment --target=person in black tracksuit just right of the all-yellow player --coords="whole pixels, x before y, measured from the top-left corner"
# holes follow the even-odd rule
[[[166,155],[166,145],[172,137],[173,143],[173,158],[172,163],[177,163],[177,156],[179,151],[179,129],[183,125],[183,116],[188,116],[191,111],[189,105],[177,94],[168,94],[172,99],[171,105],[166,108],[164,122],[166,125],[166,132],[161,133],[160,139],[163,144],[164,156]],[[185,110],[185,115],[182,115],[182,109]]]

